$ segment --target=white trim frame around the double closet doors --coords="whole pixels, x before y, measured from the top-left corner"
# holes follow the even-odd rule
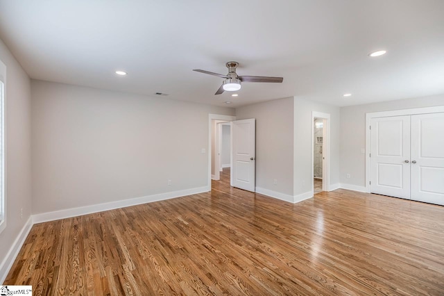
[[[444,112],[444,106],[423,107],[423,108],[411,108],[402,110],[389,110],[381,112],[366,113],[366,192],[370,193],[370,151],[371,151],[371,136],[370,136],[370,123],[373,118],[376,117],[392,117],[401,115],[418,115],[425,113],[442,113]]]

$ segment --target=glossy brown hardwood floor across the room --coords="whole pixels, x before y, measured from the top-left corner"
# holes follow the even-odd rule
[[[34,225],[4,284],[33,295],[443,295],[444,206],[230,188]]]

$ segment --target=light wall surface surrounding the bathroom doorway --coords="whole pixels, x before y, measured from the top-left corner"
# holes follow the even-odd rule
[[[311,135],[313,111],[330,114],[330,188],[339,186],[339,107],[294,99],[294,195],[309,196],[311,187]],[[324,151],[325,153],[325,151]]]

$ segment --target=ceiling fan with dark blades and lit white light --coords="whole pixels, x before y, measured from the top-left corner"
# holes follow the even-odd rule
[[[210,74],[214,76],[218,76],[223,78],[223,83],[219,90],[215,94],[221,94],[225,90],[227,92],[235,92],[236,90],[241,89],[241,82],[274,82],[274,83],[282,83],[284,80],[282,77],[269,77],[269,76],[238,76],[236,74],[236,68],[239,66],[237,62],[228,62],[226,63],[228,68],[228,74],[222,75],[217,74],[205,70],[194,69],[193,71],[200,72],[203,74]]]

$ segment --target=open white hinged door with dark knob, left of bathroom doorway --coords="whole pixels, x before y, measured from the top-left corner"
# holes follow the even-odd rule
[[[256,120],[236,120],[231,126],[231,186],[255,192]]]

